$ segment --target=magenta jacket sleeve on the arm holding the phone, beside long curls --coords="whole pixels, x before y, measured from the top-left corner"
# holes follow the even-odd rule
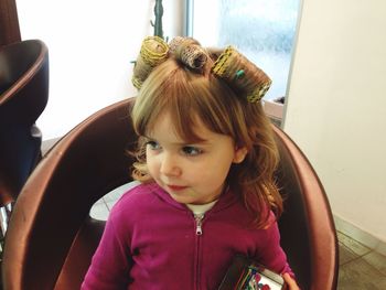
[[[287,261],[287,255],[280,246],[280,233],[277,222],[269,225],[268,228],[264,229],[265,233],[265,246],[259,253],[258,260],[268,269],[278,272],[288,272],[292,278],[294,273]]]

